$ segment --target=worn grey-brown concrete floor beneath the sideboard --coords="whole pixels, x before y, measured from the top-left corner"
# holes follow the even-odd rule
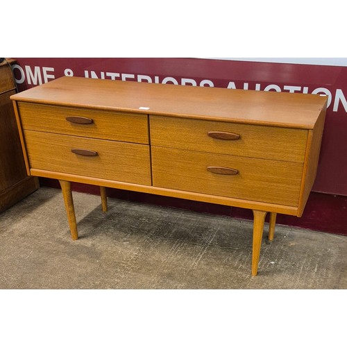
[[[347,289],[347,238],[276,226],[251,276],[252,223],[41,187],[0,214],[1,289]]]

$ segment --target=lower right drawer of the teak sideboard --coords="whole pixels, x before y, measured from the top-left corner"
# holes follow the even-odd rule
[[[152,146],[152,163],[155,187],[298,206],[300,163],[157,146]]]

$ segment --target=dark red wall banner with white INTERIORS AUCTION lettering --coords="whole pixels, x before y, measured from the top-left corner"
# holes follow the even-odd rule
[[[60,76],[328,95],[314,192],[347,196],[347,67],[200,58],[16,58],[18,90]],[[293,114],[295,119],[296,115]]]

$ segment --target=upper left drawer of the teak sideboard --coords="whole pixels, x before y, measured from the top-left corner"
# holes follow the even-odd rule
[[[26,102],[19,102],[18,107],[22,127],[26,130],[149,143],[147,115]],[[72,121],[92,119],[92,123],[76,124],[67,121],[67,117],[77,117]]]

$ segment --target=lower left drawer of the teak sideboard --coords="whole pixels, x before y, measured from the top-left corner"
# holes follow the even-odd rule
[[[151,185],[149,146],[25,130],[31,169]],[[71,149],[91,151],[86,156]]]

